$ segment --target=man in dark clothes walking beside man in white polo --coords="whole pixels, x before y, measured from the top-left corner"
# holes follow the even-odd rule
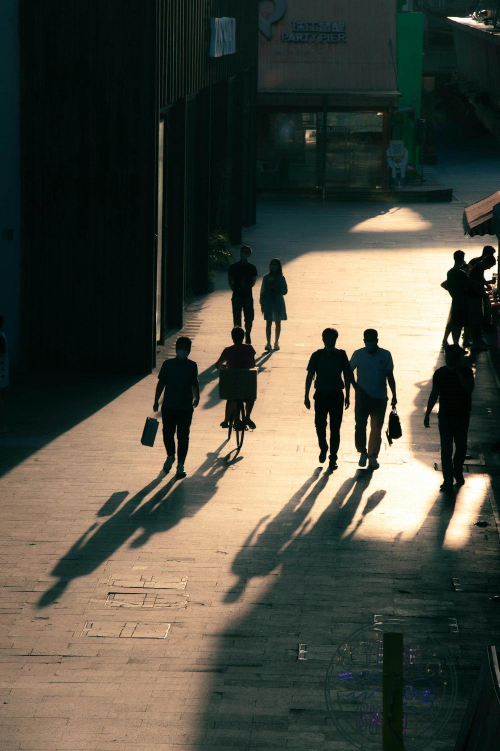
[[[326,440],[326,421],[330,418],[330,456],[328,469],[337,469],[337,451],[340,445],[340,425],[342,424],[344,405],[349,407],[351,384],[355,386],[352,369],[346,352],[335,347],[339,333],[334,328],[327,328],[322,333],[323,349],[311,354],[307,365],[306,395],[304,405],[311,408],[309,392],[314,375],[314,424],[319,442],[319,461],[326,460],[328,443]],[[342,376],[344,380],[342,380]],[[343,388],[346,384],[346,398]]]

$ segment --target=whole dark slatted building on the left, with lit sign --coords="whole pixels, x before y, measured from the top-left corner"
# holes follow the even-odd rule
[[[25,368],[151,371],[209,233],[255,222],[256,25],[238,0],[19,4]]]

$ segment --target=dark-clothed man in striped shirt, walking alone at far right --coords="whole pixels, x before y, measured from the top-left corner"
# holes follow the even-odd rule
[[[441,439],[441,466],[443,492],[464,484],[463,463],[467,454],[467,432],[471,414],[474,374],[472,368],[460,365],[463,350],[455,344],[445,348],[446,365],[433,375],[433,388],[424,417],[425,427],[430,426],[430,413],[439,398],[439,437]],[[453,444],[455,442],[455,454]]]

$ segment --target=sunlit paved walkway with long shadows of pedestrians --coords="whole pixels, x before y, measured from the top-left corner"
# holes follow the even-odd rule
[[[469,258],[484,244],[463,237],[463,205],[498,187],[481,169],[451,204],[260,202],[244,242],[261,274],[282,259],[289,321],[269,355],[256,318],[257,430],[239,457],[212,368],[231,328],[224,275],[187,311],[202,398],[184,481],[160,471],[160,440],[139,444],[156,374],[13,389],[18,417],[0,439],[1,749],[352,748],[325,708],[328,662],[355,629],[394,614],[451,650],[457,707],[428,747],[454,748],[484,647],[500,646],[488,355],[475,362],[454,504],[439,493],[436,415],[430,430],[423,416],[448,315],[439,283],[455,249]],[[403,438],[384,443],[373,473],[358,469],[353,406],[339,469],[318,463],[305,368],[332,324],[348,354],[373,325],[394,357]]]

